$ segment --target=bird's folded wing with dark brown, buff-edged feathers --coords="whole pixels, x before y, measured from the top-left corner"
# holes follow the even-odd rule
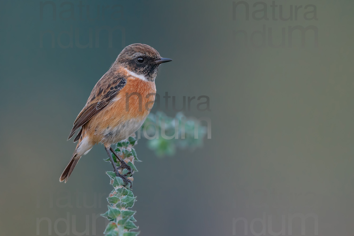
[[[93,88],[85,107],[74,122],[68,140],[73,137],[78,128],[107,107],[126,83],[127,80],[122,75],[107,72]]]

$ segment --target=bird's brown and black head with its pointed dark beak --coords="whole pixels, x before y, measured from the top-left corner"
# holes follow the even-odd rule
[[[172,61],[169,58],[161,58],[154,48],[145,44],[132,44],[125,47],[117,60],[126,69],[144,76],[149,81],[155,80],[161,63]]]

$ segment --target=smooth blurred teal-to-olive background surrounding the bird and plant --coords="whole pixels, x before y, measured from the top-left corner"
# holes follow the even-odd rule
[[[2,0],[0,235],[103,235],[112,190],[103,146],[58,179],[93,86],[137,42],[173,59],[156,78],[154,112],[176,115],[165,92],[177,109],[183,96],[208,96],[210,111],[194,99],[184,114],[212,124],[202,148],[173,156],[139,140],[141,235],[353,235],[353,8]]]

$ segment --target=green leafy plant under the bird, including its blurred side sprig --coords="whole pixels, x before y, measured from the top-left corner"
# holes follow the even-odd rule
[[[185,119],[182,113],[177,113],[175,117],[169,117],[162,112],[158,112],[155,115],[149,115],[141,131],[149,137],[156,137],[148,140],[148,147],[154,150],[157,155],[163,156],[173,155],[176,148],[185,149],[202,146],[207,128],[205,126],[198,126],[198,128],[195,129],[193,119]],[[165,136],[163,136],[161,132],[164,133]],[[195,132],[198,132],[198,138],[195,138]],[[167,139],[164,138],[166,136],[168,136]],[[134,149],[136,144],[137,139],[134,135],[129,137],[127,141],[117,143],[115,147],[115,152],[132,168],[133,173],[137,171],[134,165],[135,161],[140,161]],[[112,157],[116,166],[119,166],[120,163],[117,161],[115,155],[112,155]],[[110,162],[109,158],[105,159],[105,161]],[[128,174],[129,171],[127,169],[119,169],[119,172],[133,181],[133,173]],[[131,184],[126,184],[120,177],[117,177],[113,171],[107,171],[106,173],[114,189],[107,197],[109,203],[108,211],[102,214],[103,217],[109,220],[104,235],[136,236],[140,233],[140,231],[133,231],[138,229],[138,226],[134,223],[136,222],[134,218],[136,211],[128,209],[133,207],[136,201],[136,197],[133,195],[130,188]]]

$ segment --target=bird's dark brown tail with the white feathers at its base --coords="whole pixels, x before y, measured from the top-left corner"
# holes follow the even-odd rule
[[[67,167],[65,167],[62,175],[59,178],[60,182],[63,182],[65,180],[65,183],[68,181],[68,178],[70,174],[73,172],[74,167],[78,163],[80,157],[82,155],[87,154],[91,150],[93,145],[90,145],[87,140],[85,139],[85,133],[81,134],[81,137],[79,138],[78,145],[76,145],[76,149],[74,151],[73,156],[71,157],[69,164]]]

